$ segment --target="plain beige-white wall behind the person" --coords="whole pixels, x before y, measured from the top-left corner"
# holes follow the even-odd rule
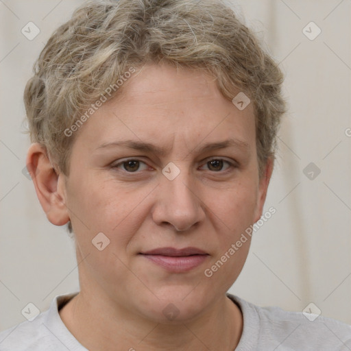
[[[25,320],[28,302],[45,311],[55,295],[79,289],[73,243],[47,221],[22,173],[22,95],[53,29],[80,3],[0,1],[0,330]],[[313,302],[351,324],[351,1],[238,3],[286,73],[289,113],[265,206],[277,213],[254,235],[230,292],[290,311]],[[34,40],[21,34],[29,21],[40,28]],[[302,32],[311,21],[322,29],[315,40]],[[303,173],[310,162],[321,170],[314,180]]]

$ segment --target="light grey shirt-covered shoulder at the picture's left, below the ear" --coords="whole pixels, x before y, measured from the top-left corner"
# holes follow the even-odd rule
[[[85,350],[66,329],[58,307],[77,293],[57,295],[47,311],[0,332],[0,351]]]

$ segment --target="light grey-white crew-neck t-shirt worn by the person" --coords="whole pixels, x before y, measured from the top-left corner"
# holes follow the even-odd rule
[[[0,351],[86,351],[66,328],[58,307],[76,293],[57,295],[49,310],[0,332]],[[259,307],[227,294],[243,313],[243,334],[235,351],[348,351],[351,326],[319,315],[313,322],[301,312]],[[311,317],[312,316],[312,317]]]

